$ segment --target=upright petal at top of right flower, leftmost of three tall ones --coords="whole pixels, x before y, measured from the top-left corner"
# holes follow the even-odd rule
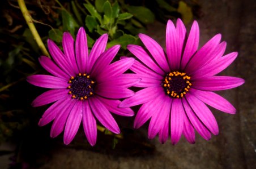
[[[176,32],[176,28],[171,20],[168,20],[166,29],[166,50],[167,59],[172,70],[180,68],[181,50],[180,39]]]

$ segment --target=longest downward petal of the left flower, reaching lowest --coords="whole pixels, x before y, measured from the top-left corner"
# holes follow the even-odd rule
[[[87,140],[91,146],[96,144],[97,139],[97,124],[96,119],[93,117],[89,102],[86,100],[82,105],[83,109],[83,128]]]

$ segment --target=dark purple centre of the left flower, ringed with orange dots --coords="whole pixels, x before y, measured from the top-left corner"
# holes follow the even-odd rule
[[[71,77],[69,80],[69,94],[72,99],[84,100],[93,95],[95,81],[92,81],[86,73],[79,73],[76,77]]]

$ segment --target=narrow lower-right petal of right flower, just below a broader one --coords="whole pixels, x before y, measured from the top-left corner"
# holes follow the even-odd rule
[[[185,109],[185,112],[187,114],[187,117],[189,117],[189,120],[191,124],[193,124],[195,130],[197,130],[198,134],[201,135],[204,139],[210,140],[211,139],[211,133],[208,131],[208,129],[200,122],[197,115],[191,110],[190,106],[187,104],[187,101],[185,99],[182,99],[182,103]]]

